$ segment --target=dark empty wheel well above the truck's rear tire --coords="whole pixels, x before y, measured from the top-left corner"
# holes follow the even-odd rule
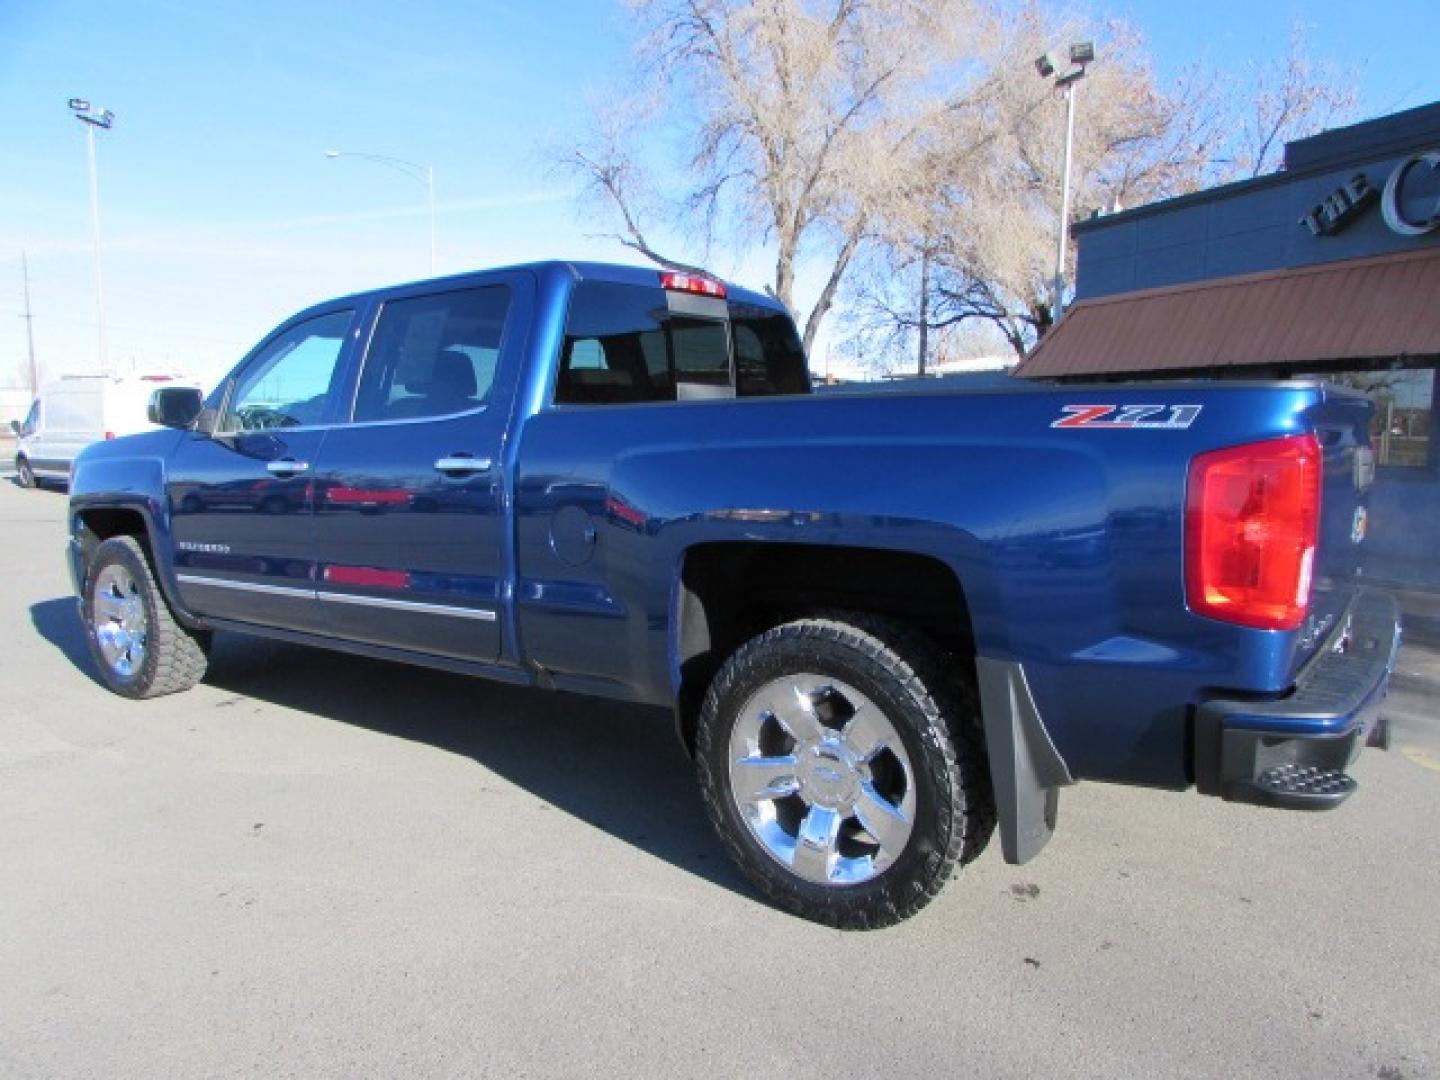
[[[701,544],[685,556],[677,612],[677,724],[694,750],[696,721],[720,665],[750,638],[825,611],[907,622],[949,652],[969,655],[965,590],[939,559],[870,547]]]

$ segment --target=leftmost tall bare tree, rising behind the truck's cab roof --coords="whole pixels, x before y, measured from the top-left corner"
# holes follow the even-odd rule
[[[674,217],[681,246],[717,232],[775,252],[770,291],[793,308],[802,264],[821,271],[805,320],[814,344],[876,222],[912,181],[935,130],[969,127],[994,94],[985,62],[996,23],[976,0],[631,0],[641,29],[645,130],[680,130],[690,184]],[[600,124],[566,156],[609,200],[621,242],[647,239],[636,143]],[[636,134],[636,132],[632,132]],[[691,256],[693,258],[693,256]]]

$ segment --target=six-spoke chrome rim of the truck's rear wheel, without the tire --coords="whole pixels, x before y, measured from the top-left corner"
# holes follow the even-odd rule
[[[890,719],[848,683],[816,674],[766,683],[740,708],[729,762],[750,834],[805,881],[870,881],[910,841],[910,757]]]

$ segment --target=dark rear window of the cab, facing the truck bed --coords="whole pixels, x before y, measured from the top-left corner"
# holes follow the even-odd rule
[[[658,287],[580,282],[570,298],[556,403],[809,390],[805,353],[786,315],[739,302],[727,312],[706,318],[671,311]]]

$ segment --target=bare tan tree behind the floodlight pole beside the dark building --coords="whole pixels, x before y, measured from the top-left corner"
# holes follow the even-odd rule
[[[1090,32],[1043,27],[1034,6],[1012,22],[1004,52],[1017,76],[995,96],[996,137],[985,167],[955,168],[942,147],[926,181],[912,186],[904,213],[886,220],[884,251],[867,259],[848,297],[857,333],[896,348],[922,333],[985,323],[1024,357],[1050,328],[1064,122],[1058,95],[1030,73],[1028,58]],[[1289,58],[1261,69],[1253,85],[1195,68],[1168,92],[1138,32],[1109,23],[1096,36],[1102,59],[1080,84],[1071,177],[1081,216],[1272,168],[1284,141],[1333,122],[1352,104],[1345,86],[1354,81],[1310,62],[1299,29]],[[920,251],[932,261],[924,297],[906,271]],[[877,338],[881,325],[890,334]]]

